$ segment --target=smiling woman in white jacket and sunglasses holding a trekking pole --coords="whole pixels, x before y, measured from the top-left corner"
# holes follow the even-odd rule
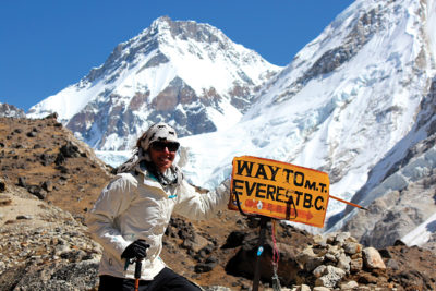
[[[201,290],[159,258],[162,237],[172,213],[207,219],[226,208],[230,193],[223,184],[195,192],[173,165],[178,148],[174,129],[152,125],[90,210],[87,226],[104,247],[99,290],[133,290],[135,266],[129,262],[136,257],[145,257],[140,290]]]

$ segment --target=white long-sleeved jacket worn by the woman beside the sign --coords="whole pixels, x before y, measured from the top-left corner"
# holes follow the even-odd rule
[[[223,184],[215,192],[199,194],[185,180],[164,189],[148,173],[118,174],[102,190],[87,216],[90,233],[104,247],[99,275],[134,278],[135,266],[125,269],[121,254],[133,241],[143,239],[150,247],[141,279],[153,280],[166,266],[159,255],[171,214],[207,219],[227,206],[229,195]]]

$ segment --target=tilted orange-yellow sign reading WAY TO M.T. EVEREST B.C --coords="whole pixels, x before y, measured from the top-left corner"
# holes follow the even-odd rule
[[[328,174],[277,160],[233,159],[229,209],[324,227]],[[238,197],[237,197],[238,195]]]

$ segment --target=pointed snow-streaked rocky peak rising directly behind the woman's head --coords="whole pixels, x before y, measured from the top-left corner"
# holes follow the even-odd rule
[[[94,148],[128,149],[159,121],[181,136],[235,123],[259,86],[280,70],[208,24],[162,16],[27,116],[57,112]]]

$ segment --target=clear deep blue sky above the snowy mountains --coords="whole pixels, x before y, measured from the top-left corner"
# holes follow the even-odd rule
[[[25,111],[78,82],[154,20],[209,23],[287,65],[353,0],[1,0],[0,102]]]

